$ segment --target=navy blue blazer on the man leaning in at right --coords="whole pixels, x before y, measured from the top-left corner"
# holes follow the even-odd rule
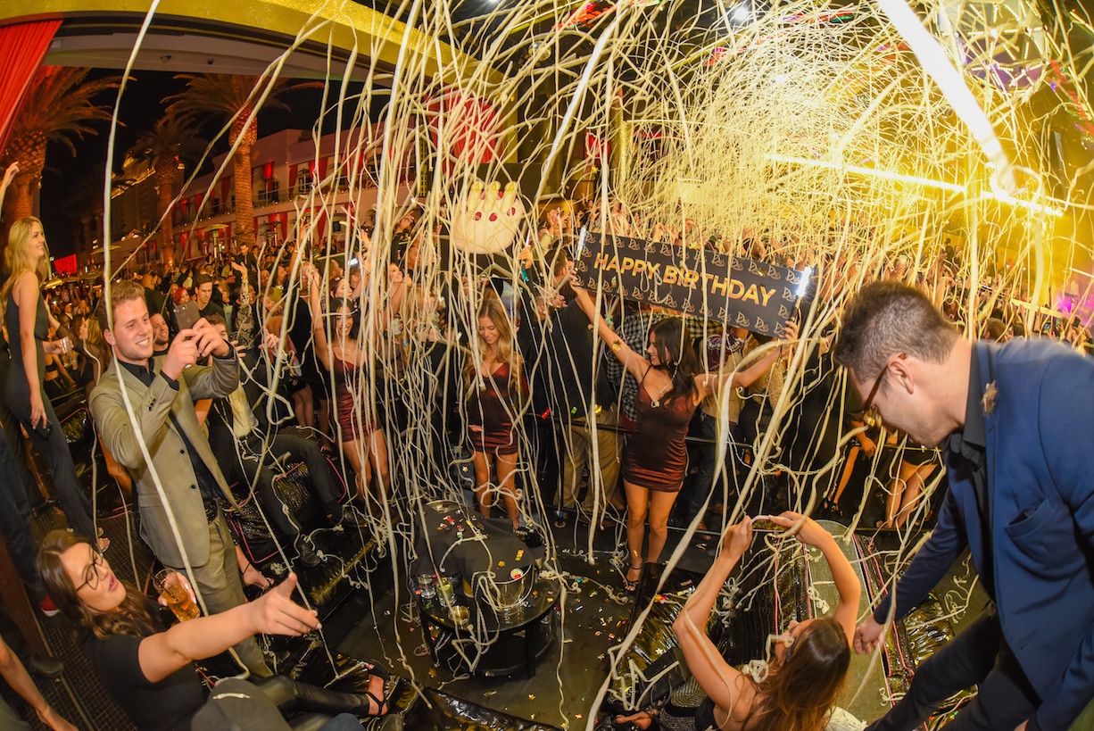
[[[978,393],[996,384],[985,409],[992,527],[971,479],[950,468],[938,525],[896,584],[897,616],[966,546],[981,570],[990,545],[1003,636],[1041,698],[1036,726],[1063,731],[1094,698],[1094,359],[1039,338],[977,343],[973,357]]]

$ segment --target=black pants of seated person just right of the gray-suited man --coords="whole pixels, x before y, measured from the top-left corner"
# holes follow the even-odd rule
[[[260,439],[248,439],[248,442],[247,446],[255,453],[261,448]],[[315,490],[315,497],[322,506],[323,514],[329,515],[337,510],[341,492],[330,475],[330,465],[317,442],[292,434],[278,434],[270,441],[267,454],[278,460],[288,456],[292,461],[304,462],[307,465],[307,475],[311,478],[312,488]],[[243,460],[243,472],[248,484],[254,481],[256,474],[258,475],[255,494],[266,510],[267,518],[281,533],[295,539],[300,534],[300,526],[288,514],[284,503],[277,497],[277,491],[274,489],[277,473],[266,464],[259,464],[249,457]]]

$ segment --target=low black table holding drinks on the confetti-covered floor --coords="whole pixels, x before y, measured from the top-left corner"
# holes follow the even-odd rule
[[[525,675],[533,677],[536,662],[555,639],[559,594],[557,580],[537,579],[524,602],[496,612],[456,592],[452,601],[454,606],[467,611],[465,624],[453,618],[440,592],[430,600],[416,593],[415,601],[426,647],[434,665],[439,665],[442,658],[456,657],[476,675],[512,675],[523,668]],[[476,645],[485,647],[485,651],[479,653]],[[463,655],[456,647],[463,649]]]

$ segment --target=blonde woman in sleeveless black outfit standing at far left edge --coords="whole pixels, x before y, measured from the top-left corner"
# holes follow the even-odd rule
[[[56,327],[57,323],[49,317],[42,297],[42,282],[49,276],[49,252],[42,221],[27,217],[12,224],[4,263],[10,276],[0,290],[0,302],[4,306],[11,348],[8,405],[46,457],[68,524],[92,539],[97,534],[91,501],[80,489],[72,453],[44,390],[46,353],[63,352],[63,347],[46,339],[50,324]],[[102,538],[100,543],[106,548],[109,542]]]

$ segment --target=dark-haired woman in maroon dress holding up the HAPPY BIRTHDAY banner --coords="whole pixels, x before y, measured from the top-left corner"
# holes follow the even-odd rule
[[[635,432],[624,450],[620,474],[627,492],[627,549],[630,558],[627,591],[635,591],[642,570],[645,520],[650,520],[650,543],[645,560],[661,557],[673,509],[687,472],[687,427],[703,398],[731,386],[746,386],[758,379],[780,357],[782,346],[772,348],[741,372],[703,373],[679,317],[666,317],[650,328],[647,358],[624,343],[596,312],[589,292],[574,288],[578,304],[596,325],[627,372],[638,381]],[[793,340],[798,326],[787,323],[783,336]]]

